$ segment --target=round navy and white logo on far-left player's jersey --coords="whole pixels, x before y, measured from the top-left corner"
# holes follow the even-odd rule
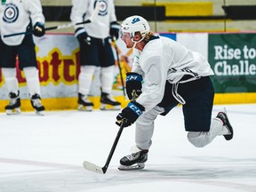
[[[15,22],[19,17],[19,9],[15,4],[6,4],[3,20],[7,23]]]

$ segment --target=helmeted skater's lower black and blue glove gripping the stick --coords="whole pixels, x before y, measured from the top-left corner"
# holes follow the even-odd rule
[[[116,116],[116,124],[121,125],[124,122],[124,127],[132,125],[138,117],[142,114],[145,108],[135,101],[128,103],[127,107]]]

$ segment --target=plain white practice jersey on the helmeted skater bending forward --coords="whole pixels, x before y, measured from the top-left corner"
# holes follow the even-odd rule
[[[184,84],[200,76],[214,73],[208,61],[199,52],[192,52],[171,38],[160,36],[148,42],[142,52],[134,49],[132,72],[144,77],[145,90],[136,100],[146,111],[163,100],[166,80],[171,84]],[[188,80],[181,80],[189,75]],[[178,87],[178,86],[177,86]]]

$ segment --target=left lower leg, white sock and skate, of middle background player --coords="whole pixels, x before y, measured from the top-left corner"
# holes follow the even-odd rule
[[[92,76],[96,66],[81,66],[78,76],[78,110],[92,111],[93,103],[88,100],[88,93],[92,84]]]

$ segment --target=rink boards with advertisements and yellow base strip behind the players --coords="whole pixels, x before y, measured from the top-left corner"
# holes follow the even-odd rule
[[[211,63],[215,76],[212,81],[215,87],[216,104],[255,103],[256,97],[256,43],[255,34],[208,34],[208,33],[162,33],[184,44],[188,49],[201,52]],[[37,63],[40,74],[41,94],[46,109],[73,109],[77,107],[77,76],[80,71],[79,47],[72,34],[47,34],[35,37]],[[132,50],[118,39],[117,42],[120,66],[125,79],[126,72],[131,70]],[[113,52],[116,50],[113,44]],[[19,65],[17,63],[17,65]],[[31,110],[26,79],[17,70],[20,83],[20,98],[23,110]],[[113,95],[124,106],[121,76],[116,60],[113,76]],[[95,108],[100,107],[100,69],[94,74],[90,99]],[[58,101],[57,101],[58,100]],[[8,92],[0,70],[0,104],[4,110],[8,102]]]

